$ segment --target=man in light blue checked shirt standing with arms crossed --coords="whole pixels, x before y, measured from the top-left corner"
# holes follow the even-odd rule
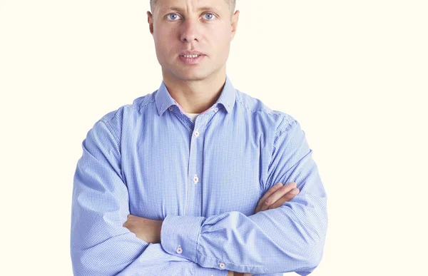
[[[83,141],[75,275],[307,275],[319,264],[326,195],[312,150],[294,118],[226,76],[234,11],[231,0],[151,2],[163,82]]]

